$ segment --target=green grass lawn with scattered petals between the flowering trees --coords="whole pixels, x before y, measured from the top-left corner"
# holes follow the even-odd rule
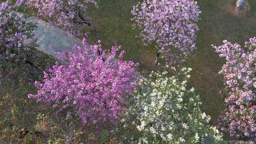
[[[101,0],[99,8],[88,9],[92,24],[99,29],[99,38],[103,46],[111,48],[114,42],[122,45],[126,51],[126,60],[140,63],[140,70],[155,70],[154,45],[144,46],[139,31],[132,28],[131,9],[140,0]],[[237,17],[232,14],[236,0],[197,0],[202,14],[197,34],[197,50],[191,54],[184,66],[191,67],[190,85],[200,94],[203,110],[212,117],[211,124],[216,125],[223,109],[223,98],[219,91],[223,87],[222,77],[218,74],[224,59],[219,58],[211,47],[221,45],[227,39],[241,45],[250,37],[256,36],[256,2],[250,0],[251,15]],[[231,10],[231,11],[230,11]],[[92,34],[91,44],[97,40]]]

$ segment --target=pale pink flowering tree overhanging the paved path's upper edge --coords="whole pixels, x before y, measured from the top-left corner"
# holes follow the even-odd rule
[[[86,12],[90,3],[97,6],[96,0],[28,0],[27,5],[37,10],[37,17],[60,27],[67,34],[82,36],[85,27],[95,30]]]

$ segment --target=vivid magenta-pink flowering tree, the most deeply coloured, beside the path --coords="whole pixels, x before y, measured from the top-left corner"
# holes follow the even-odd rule
[[[51,104],[58,112],[76,113],[84,124],[116,124],[139,77],[138,63],[122,60],[124,51],[115,58],[119,49],[113,46],[106,53],[101,44],[75,45],[72,51],[60,54],[64,64],[56,62],[46,70],[43,81],[35,82],[38,93],[28,97]]]

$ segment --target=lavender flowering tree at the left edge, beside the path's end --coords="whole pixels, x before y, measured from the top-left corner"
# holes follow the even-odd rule
[[[0,4],[0,58],[1,62],[14,61],[29,50],[25,44],[31,38],[35,25],[26,23],[25,18],[18,17],[16,7],[9,1]],[[12,11],[12,12],[11,12]]]

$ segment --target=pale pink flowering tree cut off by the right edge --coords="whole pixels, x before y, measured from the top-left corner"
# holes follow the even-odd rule
[[[224,76],[226,109],[220,117],[220,129],[230,136],[256,141],[256,37],[244,48],[227,40],[214,46],[226,59],[220,74]]]

